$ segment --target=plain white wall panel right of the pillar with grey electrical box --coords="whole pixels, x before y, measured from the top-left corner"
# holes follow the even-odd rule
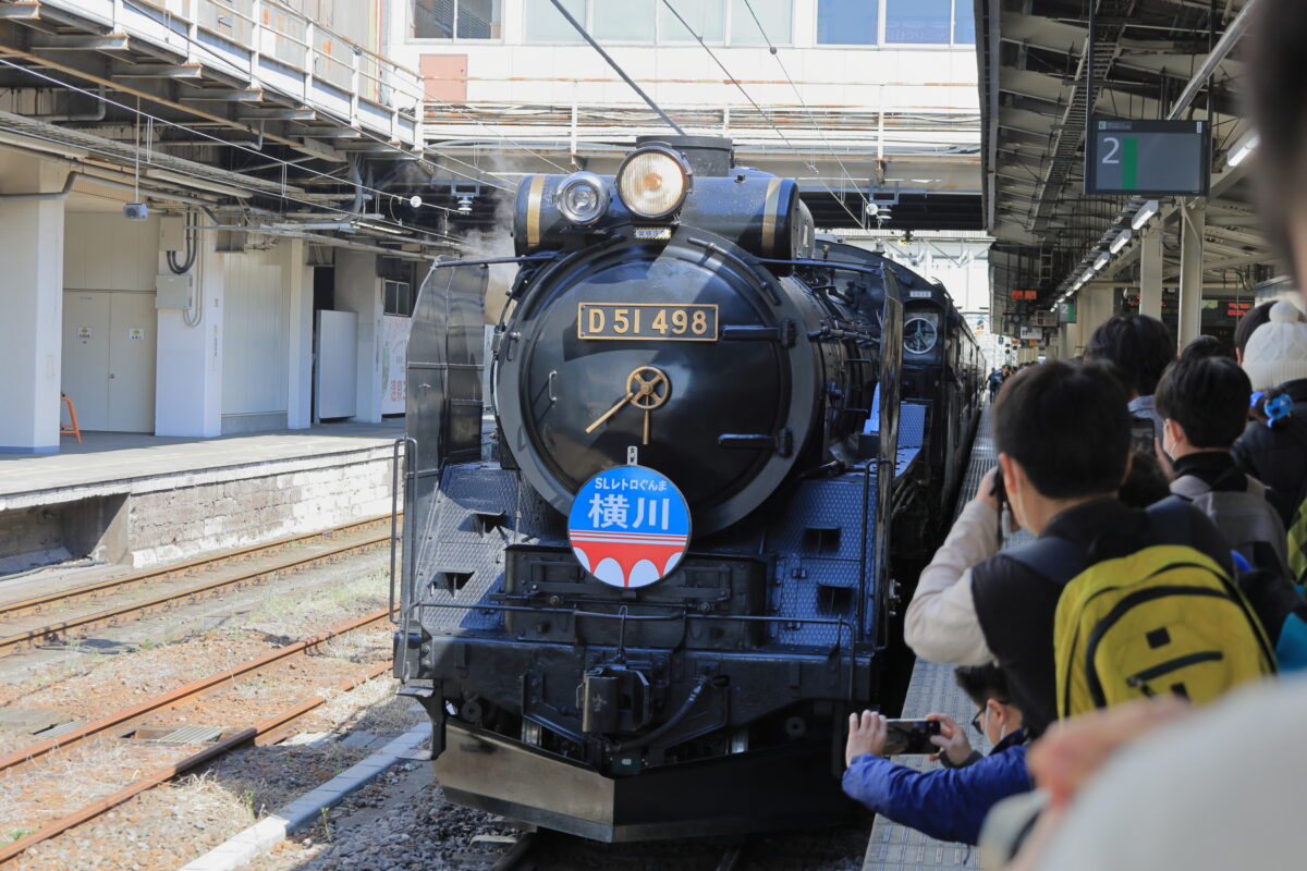
[[[222,430],[286,426],[290,245],[223,255]]]

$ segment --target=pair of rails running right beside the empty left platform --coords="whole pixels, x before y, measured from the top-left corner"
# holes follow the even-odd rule
[[[89,584],[86,586],[74,588],[71,590],[63,590],[59,593],[46,593],[42,595],[21,599],[17,602],[8,602],[0,605],[0,620],[10,620],[24,614],[39,612],[42,610],[51,609],[54,606],[63,605],[71,601],[93,599],[95,597],[122,593],[123,590],[129,589],[132,586],[141,586],[150,582],[158,582],[174,576],[196,572],[200,569],[212,569],[222,565],[223,563],[229,563],[237,559],[250,559],[252,556],[257,556],[259,554],[269,554],[278,548],[285,548],[288,546],[310,545],[314,542],[327,542],[332,537],[339,535],[341,533],[348,533],[350,530],[388,521],[389,517],[391,517],[389,515],[367,517],[365,520],[342,524],[340,526],[335,526],[332,529],[322,530],[318,533],[306,533],[303,535],[290,535],[286,538],[278,538],[271,542],[265,542],[263,545],[252,545],[250,547],[242,547],[234,551],[222,551],[220,554],[213,554],[209,556],[187,560],[184,563],[175,563],[171,565],[148,569],[144,572],[124,575],[123,577],[115,577],[106,581],[101,581],[98,584]],[[152,595],[149,598],[140,599],[136,602],[127,602],[99,611],[93,611],[78,616],[72,616],[64,620],[56,620],[54,623],[33,627],[29,629],[14,632],[12,635],[0,636],[0,657],[8,656],[14,650],[21,649],[25,645],[59,639],[60,636],[67,637],[72,633],[85,631],[95,626],[106,626],[116,623],[123,618],[131,615],[145,614],[156,609],[176,606],[188,599],[195,599],[204,595],[210,595],[213,593],[237,589],[239,586],[244,586],[248,584],[257,584],[260,581],[267,581],[274,575],[290,571],[299,571],[315,563],[331,560],[370,547],[379,547],[383,545],[388,545],[391,541],[392,538],[389,531],[378,535],[369,535],[365,538],[345,542],[336,547],[329,547],[327,550],[314,551],[311,554],[299,554],[295,556],[290,556],[288,559],[277,560],[273,564],[264,564],[244,572],[237,572],[233,575],[223,575],[217,578],[210,578],[201,584],[167,590],[158,595]]]

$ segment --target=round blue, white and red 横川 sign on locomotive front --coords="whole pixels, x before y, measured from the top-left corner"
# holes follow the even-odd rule
[[[616,466],[572,501],[567,537],[582,568],[609,586],[655,584],[690,546],[690,507],[676,484],[644,466]]]

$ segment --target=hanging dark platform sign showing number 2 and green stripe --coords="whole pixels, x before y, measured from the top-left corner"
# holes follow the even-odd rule
[[[1206,121],[1094,119],[1085,149],[1085,193],[1206,196]]]

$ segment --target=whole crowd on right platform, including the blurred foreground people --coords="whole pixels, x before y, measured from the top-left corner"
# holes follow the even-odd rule
[[[1307,287],[1307,4],[1251,64],[1261,217]],[[1270,22],[1270,24],[1265,24]],[[844,790],[1017,871],[1302,867],[1307,317],[1255,307],[1176,351],[1114,316],[1084,360],[989,377],[997,466],[921,572],[907,645],[955,665],[993,752],[942,714],[942,768],[850,720]],[[1005,547],[1009,530],[1034,541]]]

